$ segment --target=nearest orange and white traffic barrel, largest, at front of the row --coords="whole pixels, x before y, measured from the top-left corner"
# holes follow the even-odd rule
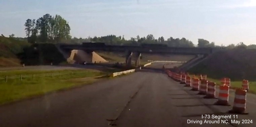
[[[237,113],[237,114],[248,114],[246,111],[246,90],[244,89],[236,89],[235,90],[235,99],[232,110],[229,113]]]

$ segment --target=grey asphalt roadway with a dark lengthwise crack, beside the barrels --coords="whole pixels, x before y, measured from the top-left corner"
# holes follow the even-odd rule
[[[162,63],[152,66],[161,68]],[[255,127],[253,101],[248,103],[250,114],[239,115],[238,119],[252,119],[255,123],[188,124],[188,120],[217,120],[205,119],[202,115],[230,115],[225,112],[232,107],[212,105],[216,99],[203,99],[197,91],[183,86],[161,71],[141,70],[81,88],[2,105],[0,126]],[[231,101],[230,95],[230,104]]]

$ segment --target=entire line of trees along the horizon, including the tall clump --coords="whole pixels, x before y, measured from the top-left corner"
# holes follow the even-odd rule
[[[50,14],[45,14],[42,17],[36,19],[27,19],[25,22],[25,32],[26,39],[30,43],[36,42],[50,42],[50,43],[72,43],[81,44],[82,42],[105,42],[111,45],[140,45],[142,43],[148,44],[166,44],[169,47],[225,47],[215,45],[214,42],[209,42],[205,39],[198,39],[197,45],[194,45],[192,41],[186,38],[173,38],[169,37],[164,39],[164,37],[155,38],[152,34],[146,37],[131,37],[130,39],[125,39],[124,36],[107,35],[101,37],[87,37],[87,38],[71,38],[70,36],[70,26],[68,22],[60,15],[51,16]],[[14,38],[14,34],[9,35],[10,38]],[[19,38],[19,40],[21,40]],[[235,47],[246,47],[246,48],[256,48],[256,45],[246,46],[243,42],[239,44],[230,44],[226,46],[227,48]]]

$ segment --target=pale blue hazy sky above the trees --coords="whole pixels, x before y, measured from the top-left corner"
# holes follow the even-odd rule
[[[256,44],[256,0],[0,0],[0,34],[25,37],[25,21],[59,14],[72,37],[153,34],[217,45]]]

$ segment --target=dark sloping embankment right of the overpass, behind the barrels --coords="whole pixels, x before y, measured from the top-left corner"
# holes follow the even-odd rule
[[[207,74],[212,78],[256,80],[256,49],[235,48],[216,52],[191,68],[189,72]]]

